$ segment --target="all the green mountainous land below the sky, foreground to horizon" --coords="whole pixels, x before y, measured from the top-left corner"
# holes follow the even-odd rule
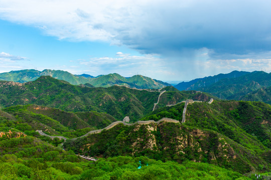
[[[271,178],[270,73],[130,78],[0,74],[0,178]]]

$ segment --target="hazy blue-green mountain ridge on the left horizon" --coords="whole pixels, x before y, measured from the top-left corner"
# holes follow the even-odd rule
[[[25,70],[13,70],[10,72],[0,73],[0,80],[14,81],[14,82],[28,82],[36,80],[42,75],[50,75],[54,78],[65,80],[74,85],[79,84],[89,84],[95,87],[110,87],[115,84],[125,85],[128,87],[135,88],[162,88],[165,86],[170,86],[171,84],[163,82],[160,80],[152,79],[143,75],[134,75],[132,77],[123,77],[117,73],[111,73],[107,75],[98,75],[96,77],[89,74],[74,75],[70,72],[63,70],[51,70],[44,69],[43,71],[35,69],[25,69]]]

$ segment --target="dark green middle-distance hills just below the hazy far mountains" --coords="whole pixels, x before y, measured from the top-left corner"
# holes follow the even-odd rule
[[[41,76],[35,81],[23,84],[0,81],[0,104],[3,107],[38,104],[73,112],[94,110],[106,112],[119,120],[125,116],[137,120],[151,112],[159,94],[159,91],[137,90],[123,86],[82,87],[50,76]],[[162,94],[159,106],[194,96],[197,96],[196,92],[168,90]],[[204,98],[210,97],[205,95]]]

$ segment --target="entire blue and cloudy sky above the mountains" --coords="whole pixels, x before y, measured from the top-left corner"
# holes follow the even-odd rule
[[[0,72],[271,71],[270,0],[0,0]]]

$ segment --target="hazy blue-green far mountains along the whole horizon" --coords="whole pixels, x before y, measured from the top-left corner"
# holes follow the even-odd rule
[[[117,73],[111,73],[94,77],[89,74],[74,75],[67,71],[50,69],[45,69],[43,71],[26,69],[4,72],[0,73],[0,80],[24,83],[33,81],[42,75],[49,75],[75,85],[80,84],[82,87],[110,87],[113,85],[123,85],[138,89],[159,89],[165,86],[171,86],[171,84],[167,82],[152,79],[143,75],[123,77]],[[271,86],[270,79],[271,73],[266,73],[264,71],[246,72],[235,70],[226,74],[220,73],[214,76],[181,82],[174,87],[179,90],[198,90],[209,92],[221,99],[257,99],[259,101],[270,103],[269,97],[271,94],[268,90]],[[265,91],[266,88],[267,90]],[[255,91],[259,91],[259,93],[256,93]]]

